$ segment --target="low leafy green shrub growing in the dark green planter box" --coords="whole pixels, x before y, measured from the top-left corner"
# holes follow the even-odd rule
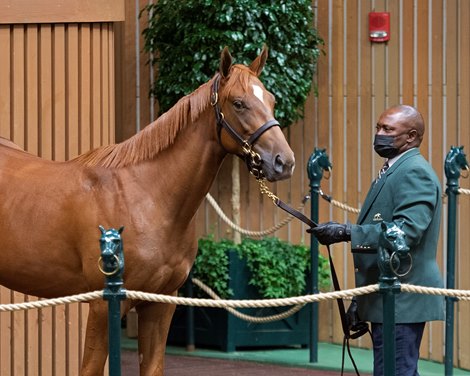
[[[255,286],[264,298],[300,296],[306,291],[306,275],[310,269],[310,250],[305,245],[293,245],[278,238],[261,240],[246,238],[241,244],[213,236],[199,239],[199,252],[193,267],[193,276],[211,287],[222,298],[232,292],[229,286],[228,250],[234,249],[247,262]],[[328,260],[319,255],[319,287],[330,286]]]

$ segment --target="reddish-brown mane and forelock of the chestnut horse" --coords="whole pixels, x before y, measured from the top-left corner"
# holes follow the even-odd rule
[[[247,72],[253,74],[244,65],[234,65],[230,79],[223,90],[219,92],[219,99],[226,98],[236,83],[246,88],[250,76],[246,74]],[[189,123],[196,121],[201,113],[210,106],[212,82],[213,79],[181,98],[157,120],[128,140],[88,151],[72,161],[86,166],[117,168],[153,158],[173,144],[178,132]]]

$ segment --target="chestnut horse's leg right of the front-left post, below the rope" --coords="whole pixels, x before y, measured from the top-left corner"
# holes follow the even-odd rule
[[[172,295],[176,295],[176,292]],[[168,330],[174,304],[142,303],[136,306],[139,321],[140,376],[162,376]]]

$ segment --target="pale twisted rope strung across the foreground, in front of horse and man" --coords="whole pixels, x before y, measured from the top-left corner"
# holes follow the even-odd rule
[[[436,287],[416,286],[410,284],[401,284],[401,292],[419,293],[426,295],[442,295],[457,298],[462,301],[470,300],[470,290],[456,290]],[[354,296],[361,296],[379,292],[378,284],[356,287],[348,290],[331,291],[304,296],[295,296],[279,299],[261,299],[261,300],[224,300],[224,299],[200,299],[183,298],[163,294],[151,294],[142,291],[126,290],[126,298],[134,300],[144,300],[156,303],[178,304],[194,307],[213,307],[213,308],[266,308],[266,307],[285,307],[290,305],[308,304],[335,299],[348,299]],[[68,303],[83,303],[90,300],[103,298],[103,291],[67,296],[63,298],[44,299],[34,302],[0,304],[0,312],[24,311],[28,309],[47,308]]]

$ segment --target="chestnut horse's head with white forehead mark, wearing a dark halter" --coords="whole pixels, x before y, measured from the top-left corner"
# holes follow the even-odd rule
[[[227,48],[212,86],[220,144],[239,155],[257,178],[276,181],[289,178],[295,165],[279,123],[274,119],[274,96],[259,80],[267,49],[249,67],[232,65]]]

